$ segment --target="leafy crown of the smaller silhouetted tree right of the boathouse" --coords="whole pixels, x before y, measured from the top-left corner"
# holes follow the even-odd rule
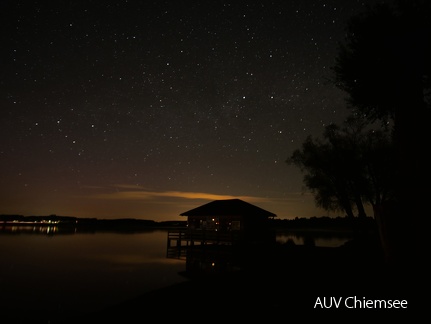
[[[343,127],[329,125],[324,141],[309,136],[302,149],[287,159],[305,173],[304,183],[318,207],[342,210],[348,217],[356,210],[359,217],[365,217],[364,203],[390,199],[392,142],[386,132],[367,126],[355,117],[348,118]]]

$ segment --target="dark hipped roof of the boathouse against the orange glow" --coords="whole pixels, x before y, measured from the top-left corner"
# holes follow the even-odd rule
[[[180,216],[228,216],[228,215],[254,215],[276,217],[258,206],[245,202],[241,199],[214,200],[202,206],[190,209]]]

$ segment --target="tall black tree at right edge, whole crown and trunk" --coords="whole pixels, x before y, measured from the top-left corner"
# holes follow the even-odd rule
[[[393,127],[394,199],[374,206],[391,262],[416,262],[423,253],[427,194],[419,181],[429,170],[430,17],[431,2],[424,0],[369,8],[350,19],[333,68],[353,110]]]

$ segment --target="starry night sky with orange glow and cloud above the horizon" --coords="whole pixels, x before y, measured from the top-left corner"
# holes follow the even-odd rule
[[[350,114],[328,80],[375,2],[2,1],[0,214],[338,215],[285,161]]]

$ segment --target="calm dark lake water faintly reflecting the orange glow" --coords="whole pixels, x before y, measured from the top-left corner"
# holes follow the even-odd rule
[[[305,244],[310,235],[277,234]],[[346,236],[316,236],[337,246]],[[167,230],[133,234],[52,234],[47,228],[0,230],[0,305],[3,313],[47,318],[105,308],[186,280],[184,259],[167,257]],[[1,322],[1,315],[0,315]]]

